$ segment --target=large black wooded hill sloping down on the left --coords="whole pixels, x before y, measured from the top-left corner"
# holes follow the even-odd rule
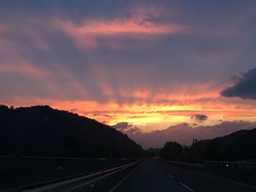
[[[0,155],[122,158],[143,155],[127,135],[89,118],[48,106],[0,106]]]

